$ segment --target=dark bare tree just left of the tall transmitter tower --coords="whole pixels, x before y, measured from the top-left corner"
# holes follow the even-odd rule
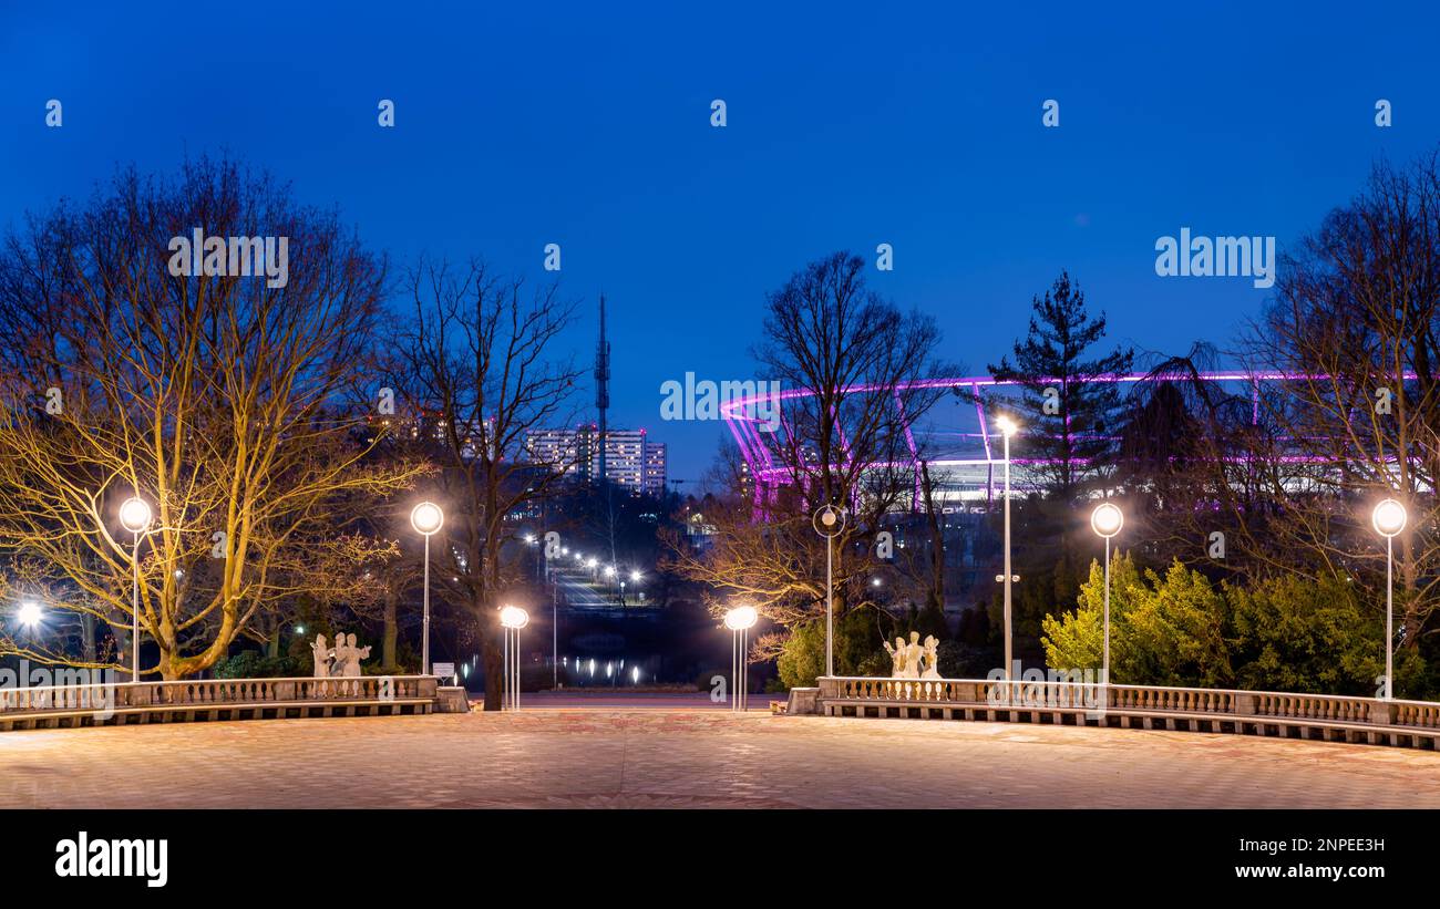
[[[409,276],[409,315],[389,368],[439,465],[445,528],[431,547],[433,581],[475,620],[485,709],[500,709],[501,595],[521,570],[504,559],[514,515],[544,501],[573,460],[537,463],[526,437],[573,423],[582,370],[554,354],[575,318],[559,285],[526,288],[478,262],[422,262]]]

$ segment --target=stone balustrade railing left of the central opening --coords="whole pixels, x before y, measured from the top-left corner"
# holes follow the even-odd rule
[[[428,713],[439,698],[435,676],[341,679],[184,679],[0,688],[0,729],[163,719]],[[66,722],[42,722],[46,718]],[[118,719],[117,718],[125,718]],[[132,718],[132,719],[131,719]],[[75,722],[75,721],[81,722]]]

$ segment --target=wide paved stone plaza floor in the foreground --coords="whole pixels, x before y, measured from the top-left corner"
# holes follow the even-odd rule
[[[0,734],[0,807],[1440,807],[1440,754],[553,709]]]

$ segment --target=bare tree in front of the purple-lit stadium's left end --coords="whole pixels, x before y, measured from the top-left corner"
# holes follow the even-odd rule
[[[850,515],[834,539],[837,618],[874,606],[864,581],[877,568],[876,534],[887,513],[917,505],[910,427],[943,393],[920,380],[943,370],[935,322],[881,299],[864,268],[834,253],[769,295],[756,360],[768,378],[809,394],[783,400],[783,433],[769,446],[775,473],[752,478],[757,501],[732,496],[707,509],[716,525],[708,552],[672,547],[674,568],[714,591],[714,614],[746,600],[786,627],[824,616],[825,541],[811,524],[824,505]],[[762,637],[753,656],[773,656],[782,643],[783,634]]]

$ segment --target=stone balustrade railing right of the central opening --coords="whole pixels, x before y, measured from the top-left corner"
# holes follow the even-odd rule
[[[1440,736],[1440,703],[1382,700],[1339,695],[1295,695],[1230,689],[1169,688],[1159,685],[1097,685],[1081,682],[1004,682],[978,679],[876,679],[822,677],[815,693],[816,712],[829,716],[919,716],[935,719],[1007,719],[1066,722],[1074,725],[1138,725],[1218,731],[1273,729],[1300,738],[1344,738],[1333,731],[1355,731],[1377,741],[1377,734],[1398,736],[1417,746],[1436,746]],[[1176,725],[1179,722],[1181,725]],[[1397,735],[1388,736],[1390,744]]]

